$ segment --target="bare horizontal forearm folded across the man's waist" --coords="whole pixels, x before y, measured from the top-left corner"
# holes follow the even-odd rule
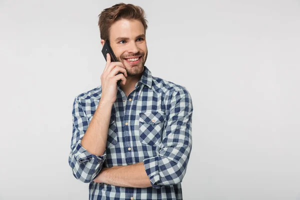
[[[145,172],[143,162],[127,166],[102,168],[95,182],[104,182],[121,187],[149,187],[150,180]]]

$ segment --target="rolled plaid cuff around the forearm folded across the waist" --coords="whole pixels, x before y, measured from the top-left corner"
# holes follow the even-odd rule
[[[158,157],[146,158],[143,160],[143,164],[150,179],[151,185],[155,188],[160,188],[161,185],[158,185],[160,182]]]

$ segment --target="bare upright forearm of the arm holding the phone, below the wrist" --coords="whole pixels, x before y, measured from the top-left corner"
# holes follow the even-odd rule
[[[112,104],[101,104],[97,109],[81,140],[81,145],[94,155],[102,155],[105,151],[107,131],[109,126]]]

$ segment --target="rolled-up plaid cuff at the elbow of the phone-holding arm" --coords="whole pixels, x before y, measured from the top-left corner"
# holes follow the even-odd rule
[[[83,146],[81,146],[81,141],[79,141],[74,148],[73,154],[76,160],[80,163],[89,162],[91,159],[94,159],[94,161],[99,163],[101,161],[103,162],[103,160],[106,158],[106,149],[103,155],[94,155],[83,148]]]

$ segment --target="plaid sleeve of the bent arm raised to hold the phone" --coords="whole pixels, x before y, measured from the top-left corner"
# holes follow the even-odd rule
[[[106,158],[106,150],[98,156],[89,153],[81,146],[81,139],[88,127],[88,119],[78,98],[74,99],[72,110],[72,138],[68,163],[75,178],[82,182],[91,182],[100,172]]]

